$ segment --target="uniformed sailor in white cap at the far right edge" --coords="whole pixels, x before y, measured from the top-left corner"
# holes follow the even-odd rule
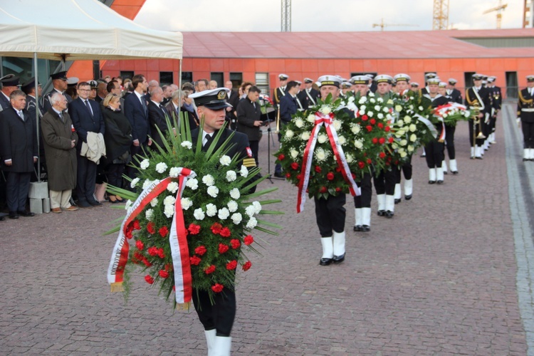
[[[534,161],[534,75],[527,75],[527,88],[519,90],[517,114],[523,129],[523,161]]]

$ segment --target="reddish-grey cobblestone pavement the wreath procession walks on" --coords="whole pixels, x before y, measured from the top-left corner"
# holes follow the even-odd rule
[[[531,254],[516,251],[514,233],[528,223],[512,220],[524,205],[509,204],[511,192],[522,193],[509,190],[508,171],[517,169],[507,167],[507,155],[519,162],[520,152],[506,151],[503,122],[482,161],[469,159],[468,127],[459,124],[460,173],[442,185],[427,183],[415,155],[414,197],[395,206],[393,219],[376,215],[374,199],[370,233],[352,231],[347,199],[340,265],[318,265],[313,201],[295,214],[295,188],[263,182],[279,187],[271,197],[283,199],[276,209],[286,212],[277,217],[284,227],[280,236],[257,234],[268,244],[239,275],[233,355],[526,355]],[[1,355],[206,354],[194,310],[173,313],[141,273],[127,305],[110,293],[116,236],[102,234],[123,213],[105,204],[0,222]],[[524,253],[519,274],[516,253]]]

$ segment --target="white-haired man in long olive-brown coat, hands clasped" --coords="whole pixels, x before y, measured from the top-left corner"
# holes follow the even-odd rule
[[[77,206],[70,204],[70,197],[76,187],[76,144],[78,135],[73,130],[73,122],[67,109],[67,98],[53,93],[50,108],[41,122],[43,145],[48,167],[48,189],[50,206],[53,213],[76,211]]]

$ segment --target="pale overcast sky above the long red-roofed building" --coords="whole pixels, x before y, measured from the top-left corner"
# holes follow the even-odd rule
[[[445,0],[446,1],[446,0]],[[292,31],[385,31],[432,29],[432,0],[292,0]],[[503,0],[501,28],[520,28],[523,0]],[[417,6],[414,6],[417,4]],[[498,0],[449,0],[449,26],[496,28]],[[164,31],[280,31],[281,0],[146,0],[135,22]]]

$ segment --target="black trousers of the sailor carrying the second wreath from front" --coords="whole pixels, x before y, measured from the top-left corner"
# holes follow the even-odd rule
[[[331,195],[325,198],[315,197],[315,219],[321,237],[330,237],[335,232],[345,231],[345,194],[337,197]]]

